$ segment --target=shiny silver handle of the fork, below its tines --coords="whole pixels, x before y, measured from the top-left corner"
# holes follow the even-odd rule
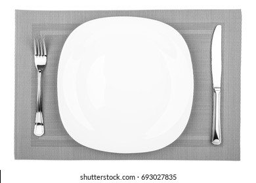
[[[36,136],[42,136],[45,133],[41,104],[41,73],[42,71],[37,71],[37,112],[35,114],[35,128],[33,131]]]

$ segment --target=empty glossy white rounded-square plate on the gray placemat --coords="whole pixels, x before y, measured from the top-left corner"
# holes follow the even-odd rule
[[[70,136],[89,148],[137,153],[171,144],[186,127],[193,90],[186,42],[156,20],[92,20],[62,48],[60,116]]]

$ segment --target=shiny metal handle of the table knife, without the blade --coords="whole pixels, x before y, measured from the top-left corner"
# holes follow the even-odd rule
[[[211,142],[221,144],[221,88],[213,88],[213,132]]]

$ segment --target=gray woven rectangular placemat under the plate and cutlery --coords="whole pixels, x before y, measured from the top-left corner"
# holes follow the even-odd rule
[[[16,10],[15,29],[15,159],[182,159],[240,160],[240,10]],[[171,25],[184,37],[194,70],[194,101],[188,125],[169,146],[140,154],[101,152],[75,142],[58,112],[57,73],[68,35],[89,20],[108,16],[151,18]],[[212,82],[210,45],[215,25],[223,25],[221,120],[223,143],[211,144]],[[43,73],[45,135],[35,137],[37,71],[33,36],[45,35],[48,61]]]

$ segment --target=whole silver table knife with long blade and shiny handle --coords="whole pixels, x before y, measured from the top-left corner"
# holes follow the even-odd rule
[[[211,142],[221,144],[221,25],[213,31],[211,41],[211,72],[213,75],[213,131]]]

